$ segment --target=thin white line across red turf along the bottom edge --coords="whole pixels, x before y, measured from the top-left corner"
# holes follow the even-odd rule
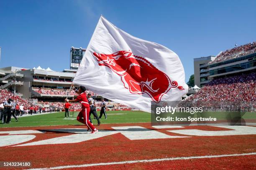
[[[189,159],[201,159],[201,158],[221,158],[221,157],[232,157],[232,156],[245,156],[245,155],[256,155],[256,153],[241,153],[241,154],[231,154],[231,155],[209,155],[209,156],[191,156],[191,157],[177,157],[177,158],[161,158],[161,159],[151,159],[151,160],[129,160],[122,162],[110,162],[110,163],[92,163],[83,165],[68,165],[59,166],[51,168],[33,168],[28,170],[58,170],[65,168],[81,168],[81,167],[92,167],[92,166],[102,166],[102,165],[120,165],[120,164],[131,164],[131,163],[151,163],[166,160],[189,160]]]

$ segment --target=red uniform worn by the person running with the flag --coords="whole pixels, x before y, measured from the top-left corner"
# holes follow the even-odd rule
[[[77,120],[87,125],[90,130],[95,130],[96,128],[89,121],[90,105],[88,103],[86,93],[82,92],[77,96],[76,100],[82,104],[82,110],[77,115]]]

